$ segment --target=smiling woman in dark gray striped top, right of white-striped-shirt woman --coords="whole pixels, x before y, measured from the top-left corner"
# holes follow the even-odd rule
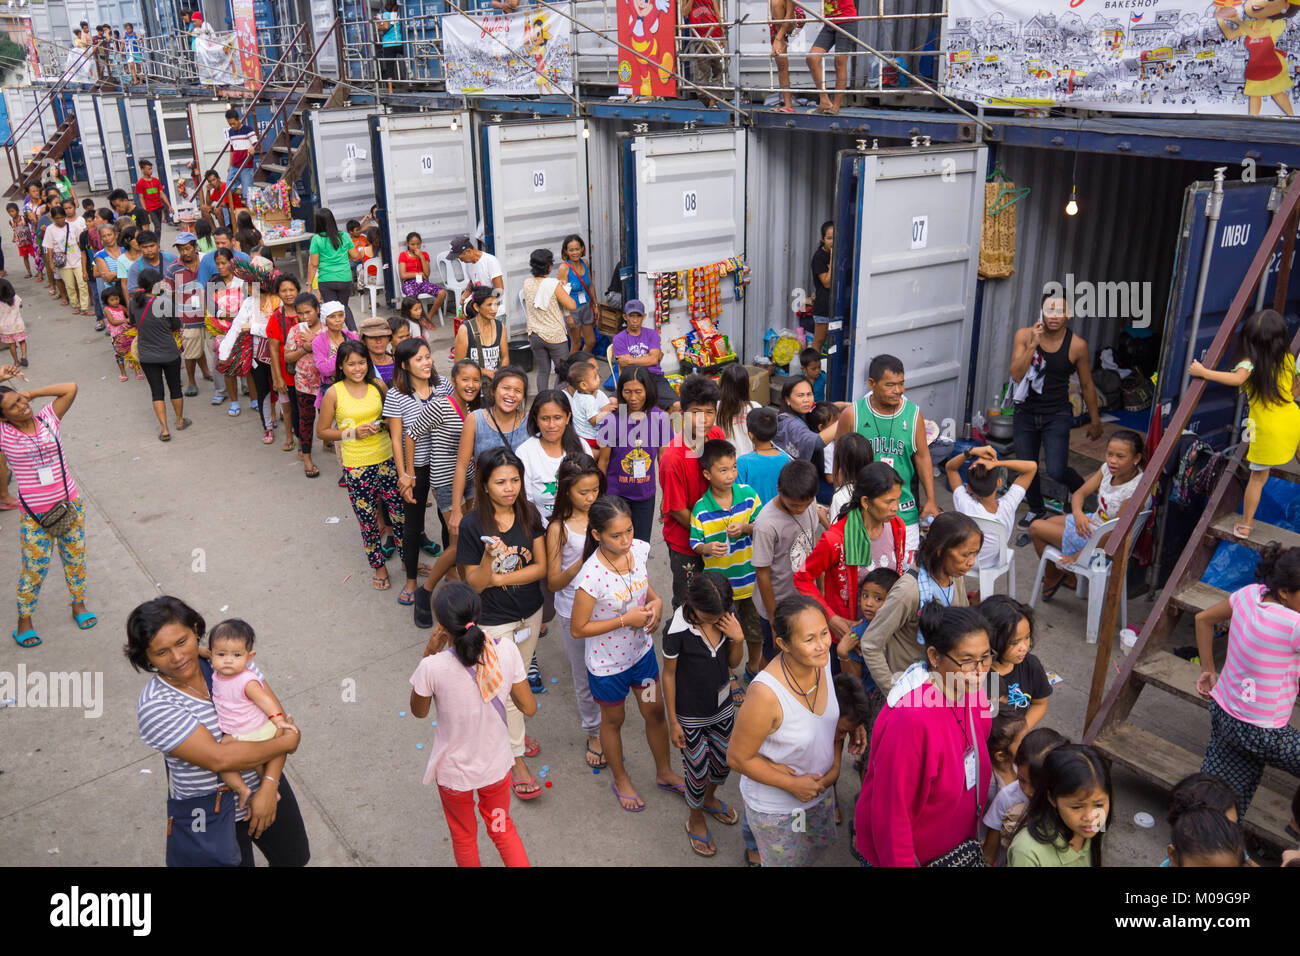
[[[410,424],[403,420],[406,441],[430,437],[429,445],[429,488],[433,489],[434,499],[438,502],[438,514],[442,516],[442,554],[433,564],[433,571],[424,581],[424,587],[415,592],[415,626],[421,628],[433,627],[433,606],[430,600],[433,589],[442,580],[443,575],[451,571],[456,563],[456,533],[451,531],[448,515],[454,503],[451,497],[452,483],[456,476],[456,455],[460,451],[460,432],[464,428],[465,418],[478,408],[478,386],[482,382],[482,373],[473,359],[462,359],[451,367],[451,394],[443,398],[434,398],[425,405],[415,421]],[[465,492],[473,494],[474,463],[471,459],[465,472]]]

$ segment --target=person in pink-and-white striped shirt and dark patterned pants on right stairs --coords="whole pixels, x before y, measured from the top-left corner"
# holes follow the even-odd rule
[[[1300,548],[1264,549],[1249,584],[1196,615],[1210,741],[1201,773],[1236,791],[1245,817],[1265,766],[1300,777],[1300,731],[1288,726],[1300,679]],[[1214,626],[1231,619],[1223,672],[1214,672]]]

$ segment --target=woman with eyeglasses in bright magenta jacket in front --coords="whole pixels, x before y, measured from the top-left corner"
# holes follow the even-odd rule
[[[920,609],[920,635],[926,656],[900,675],[871,735],[854,844],[871,866],[985,866],[975,831],[992,773],[988,624],[936,600]]]

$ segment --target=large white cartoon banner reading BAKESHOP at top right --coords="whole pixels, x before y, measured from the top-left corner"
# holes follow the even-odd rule
[[[1295,116],[1300,0],[952,0],[944,53],[991,107]]]

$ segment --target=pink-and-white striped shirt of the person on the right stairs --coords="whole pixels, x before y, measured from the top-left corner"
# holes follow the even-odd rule
[[[1210,697],[1256,727],[1284,727],[1300,680],[1300,614],[1264,602],[1264,585],[1232,592],[1227,659]]]

